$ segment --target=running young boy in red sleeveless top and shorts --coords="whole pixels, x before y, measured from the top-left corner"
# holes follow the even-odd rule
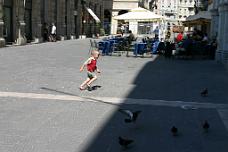
[[[80,85],[79,89],[92,91],[91,84],[97,80],[97,76],[94,72],[100,73],[100,70],[97,68],[97,59],[99,58],[100,53],[97,50],[92,51],[91,57],[87,59],[80,68],[80,72],[83,71],[85,66],[87,67],[87,79]]]

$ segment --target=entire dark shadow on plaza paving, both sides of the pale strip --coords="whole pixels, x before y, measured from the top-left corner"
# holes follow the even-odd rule
[[[215,62],[164,60],[149,62],[136,77],[135,89],[127,98],[162,99],[224,103],[228,86],[227,73]],[[203,87],[209,96],[201,97]],[[211,90],[211,91],[210,91]],[[216,94],[217,93],[217,94]],[[216,99],[216,100],[214,100]],[[139,101],[140,102],[140,101]],[[228,133],[216,109],[186,110],[179,107],[120,105],[122,109],[141,110],[137,122],[126,124],[126,118],[116,111],[83,152],[227,152]],[[205,133],[202,124],[210,129]],[[178,128],[178,136],[170,129]],[[129,149],[123,149],[118,137],[133,139]]]

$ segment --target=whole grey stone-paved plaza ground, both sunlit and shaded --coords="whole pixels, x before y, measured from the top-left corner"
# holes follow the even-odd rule
[[[220,63],[101,56],[101,88],[80,91],[88,50],[87,39],[0,49],[1,152],[228,151],[228,71]],[[142,113],[125,124],[119,108]],[[123,149],[118,136],[135,142]]]

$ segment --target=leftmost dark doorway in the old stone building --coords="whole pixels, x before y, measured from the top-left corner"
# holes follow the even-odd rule
[[[3,5],[4,38],[6,43],[13,42],[13,0],[4,1]]]

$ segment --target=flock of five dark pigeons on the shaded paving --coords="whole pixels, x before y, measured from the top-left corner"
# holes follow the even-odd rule
[[[208,89],[205,88],[200,94],[202,97],[206,97],[208,95]],[[121,112],[127,116],[127,118],[124,119],[125,123],[135,123],[139,114],[142,111],[132,112],[132,111],[126,110],[126,109],[119,109],[119,112]],[[206,133],[208,132],[210,125],[207,120],[205,120],[204,123],[202,124],[202,128]],[[174,137],[178,136],[178,128],[176,126],[172,126],[170,131]],[[128,146],[134,142],[134,140],[132,140],[132,139],[123,138],[121,136],[119,136],[118,140],[119,140],[120,146],[122,146],[125,149],[128,148]]]

